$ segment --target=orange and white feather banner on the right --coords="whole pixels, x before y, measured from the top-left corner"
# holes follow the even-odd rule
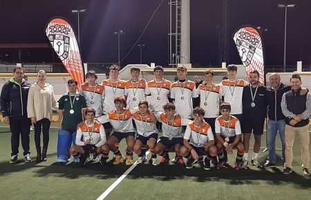
[[[238,48],[238,54],[240,54],[247,77],[249,72],[257,70],[260,74],[259,81],[264,83],[265,65],[261,35],[255,28],[245,26],[234,34],[234,42],[236,48]]]

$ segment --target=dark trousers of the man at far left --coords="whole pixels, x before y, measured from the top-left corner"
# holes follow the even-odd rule
[[[23,155],[30,153],[29,134],[31,121],[28,117],[10,117],[11,135],[11,155],[19,153],[19,134],[21,134],[21,146],[23,147]]]

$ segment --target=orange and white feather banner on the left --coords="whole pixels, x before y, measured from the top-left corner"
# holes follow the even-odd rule
[[[84,83],[84,66],[75,32],[70,23],[59,17],[51,19],[46,26],[46,36],[70,77],[78,82],[79,88]]]

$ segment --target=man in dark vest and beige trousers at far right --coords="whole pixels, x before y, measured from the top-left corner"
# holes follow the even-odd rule
[[[281,108],[285,118],[285,156],[286,163],[283,173],[292,172],[292,146],[294,145],[295,134],[299,135],[301,143],[301,159],[303,175],[309,176],[310,152],[309,152],[309,117],[311,114],[311,94],[300,95],[301,77],[293,74],[290,78],[292,90],[285,92],[282,97]]]

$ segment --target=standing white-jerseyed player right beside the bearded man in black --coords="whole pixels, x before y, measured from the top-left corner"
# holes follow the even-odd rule
[[[236,79],[238,68],[234,65],[227,66],[228,79],[221,81],[223,87],[224,101],[232,106],[231,114],[242,123],[242,94],[244,86],[249,83],[243,79]]]

